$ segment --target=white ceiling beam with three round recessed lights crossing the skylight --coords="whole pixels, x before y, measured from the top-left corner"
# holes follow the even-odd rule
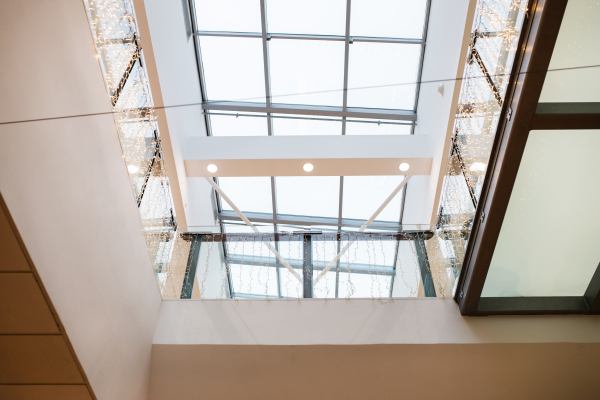
[[[184,150],[188,177],[429,175],[431,162],[426,135],[192,137]]]

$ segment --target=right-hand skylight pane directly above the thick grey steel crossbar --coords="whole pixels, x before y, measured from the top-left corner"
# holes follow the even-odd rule
[[[421,46],[414,44],[352,44],[348,107],[412,110],[420,56]]]

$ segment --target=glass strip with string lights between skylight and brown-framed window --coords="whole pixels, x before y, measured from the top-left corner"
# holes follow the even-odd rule
[[[444,296],[455,290],[513,68],[525,0],[479,0],[442,186],[427,246]]]

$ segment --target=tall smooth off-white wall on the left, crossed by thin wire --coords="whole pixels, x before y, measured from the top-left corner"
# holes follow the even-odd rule
[[[161,304],[82,1],[0,2],[0,191],[99,400],[145,399]]]

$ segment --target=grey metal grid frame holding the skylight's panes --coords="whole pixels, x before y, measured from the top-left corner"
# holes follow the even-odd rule
[[[210,123],[210,111],[229,111],[236,113],[244,112],[259,112],[265,113],[267,119],[267,132],[269,136],[273,135],[273,121],[272,114],[294,114],[299,116],[320,116],[320,117],[341,117],[342,120],[342,135],[346,134],[346,120],[348,118],[366,118],[375,120],[390,120],[390,121],[402,121],[411,125],[411,134],[414,134],[416,121],[417,121],[417,106],[420,91],[420,81],[423,71],[423,60],[425,56],[425,45],[427,38],[427,27],[429,24],[429,14],[431,9],[431,0],[426,1],[425,20],[423,22],[423,34],[420,39],[407,39],[407,38],[389,38],[389,37],[367,37],[367,36],[350,36],[350,13],[352,10],[351,1],[346,0],[346,29],[345,35],[311,35],[311,34],[285,34],[285,33],[269,33],[268,32],[268,18],[267,18],[267,1],[260,0],[260,13],[261,13],[261,32],[231,32],[231,31],[201,31],[198,30],[198,23],[196,20],[196,5],[194,0],[188,0],[189,2],[189,18],[191,19],[192,26],[192,37],[194,40],[194,49],[196,51],[196,62],[198,64],[198,76],[200,80],[200,91],[202,98],[202,113],[206,124],[206,132],[208,136],[212,136],[212,128]],[[187,15],[185,16],[187,18]],[[209,101],[206,93],[206,81],[204,77],[204,69],[202,66],[202,51],[200,47],[200,37],[202,36],[217,36],[217,37],[238,37],[238,38],[259,38],[262,40],[263,48],[263,65],[265,74],[265,102],[244,102],[244,101]],[[344,80],[343,80],[343,101],[342,107],[331,107],[331,106],[314,106],[314,105],[296,105],[296,104],[284,104],[284,103],[273,103],[271,96],[271,73],[270,73],[270,60],[269,60],[269,44],[268,42],[272,39],[287,39],[287,40],[325,40],[325,41],[343,41],[344,42]],[[421,55],[419,59],[419,66],[417,70],[417,85],[415,90],[415,100],[412,110],[399,110],[399,109],[376,109],[376,108],[357,108],[348,107],[348,70],[349,70],[349,53],[350,45],[354,42],[370,42],[370,43],[395,43],[395,44],[418,44],[421,46]],[[218,179],[215,178],[215,182],[218,184]],[[341,232],[342,226],[350,225],[352,222],[342,219],[342,204],[343,204],[343,187],[344,177],[340,177],[340,188],[339,188],[339,210],[337,218],[337,230]],[[404,202],[406,198],[405,187],[402,190],[402,200],[400,204],[400,220],[398,224],[389,223],[390,227],[387,229],[393,229],[400,232],[402,230],[402,218],[404,214]],[[273,223],[274,231],[277,232],[277,225],[281,223],[278,219],[281,217],[277,213],[277,188],[276,188],[276,177],[271,177],[271,197],[273,202],[273,215],[270,223]],[[232,216],[228,216],[227,212],[224,212],[221,207],[220,198],[215,192],[215,203],[216,210],[215,215],[218,216],[218,222],[220,225],[221,233],[224,233],[224,220],[235,220]],[[259,213],[248,213],[248,214],[259,214]],[[258,220],[266,221],[270,218],[268,216],[261,216]],[[290,216],[286,216],[286,219],[290,219]],[[292,218],[298,225],[313,225],[314,220],[325,222],[330,224],[332,221],[323,221],[322,218],[310,218],[302,216],[293,216]],[[249,218],[251,221],[253,218]],[[335,220],[335,219],[332,219]],[[373,227],[378,225],[388,225],[388,223],[375,222]],[[351,226],[351,225],[350,225]],[[276,243],[276,249],[278,250],[279,243]],[[339,247],[339,246],[338,246]],[[223,244],[224,257],[227,259],[227,249]],[[339,251],[339,248],[338,248]],[[397,250],[396,250],[397,251]],[[395,265],[394,265],[395,268]],[[277,271],[277,293],[278,297],[281,297],[281,282],[279,279],[279,267]],[[228,275],[228,283],[231,286],[231,276]],[[390,296],[393,290],[393,279],[391,282],[392,287],[390,288]],[[338,297],[338,286],[339,286],[339,262],[336,267],[336,288],[335,297]],[[231,292],[232,293],[232,292]]]

